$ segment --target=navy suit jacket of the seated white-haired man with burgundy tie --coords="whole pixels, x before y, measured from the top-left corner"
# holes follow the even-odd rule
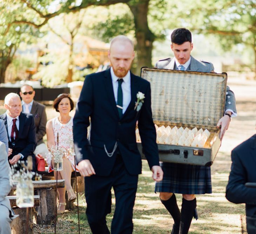
[[[8,144],[9,148],[13,149],[12,154],[8,157],[12,159],[18,153],[21,153],[24,158],[22,160],[26,161],[29,155],[33,158],[33,167],[35,167],[35,155],[34,150],[36,147],[36,139],[35,139],[35,122],[33,115],[26,114],[21,112],[19,116],[19,135],[18,138],[15,139],[15,144],[12,144],[9,140],[9,133],[7,128],[7,119],[6,113],[0,115],[0,119],[5,122],[5,127],[8,134]],[[35,169],[35,168],[34,168]]]

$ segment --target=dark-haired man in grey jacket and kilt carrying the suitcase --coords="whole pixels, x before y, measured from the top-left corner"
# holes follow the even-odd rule
[[[190,55],[193,43],[188,29],[178,28],[173,31],[171,49],[175,57],[157,61],[157,68],[214,72],[212,63],[198,61]],[[225,115],[217,124],[217,127],[221,125],[221,139],[229,127],[231,116],[236,115],[235,96],[227,87]],[[177,163],[161,163],[161,167],[164,176],[161,182],[156,183],[155,192],[160,192],[161,202],[174,219],[171,234],[188,233],[193,216],[197,218],[195,194],[212,193],[211,169],[206,166]],[[181,212],[177,206],[175,193],[180,193],[183,197]]]

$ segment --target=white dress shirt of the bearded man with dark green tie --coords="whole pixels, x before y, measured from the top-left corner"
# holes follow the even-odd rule
[[[111,78],[112,78],[115,102],[117,104],[117,89],[118,89],[119,77],[117,77],[114,74],[114,70],[112,67],[110,68],[110,74],[111,74]],[[123,79],[123,82],[121,84],[121,87],[122,87],[122,92],[123,92],[123,113],[124,113],[126,111],[128,105],[131,102],[131,74],[130,74],[130,71],[128,71],[126,76],[124,76],[122,79]]]

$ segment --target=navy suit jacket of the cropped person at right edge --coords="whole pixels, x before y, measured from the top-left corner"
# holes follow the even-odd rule
[[[231,159],[226,198],[245,203],[246,215],[256,218],[256,188],[245,187],[247,182],[256,183],[256,134],[232,150]]]

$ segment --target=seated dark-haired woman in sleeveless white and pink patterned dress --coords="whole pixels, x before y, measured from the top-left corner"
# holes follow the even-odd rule
[[[65,148],[68,153],[67,157],[63,157],[63,170],[58,172],[58,178],[65,179],[65,187],[58,188],[58,214],[63,214],[66,205],[66,190],[69,201],[74,201],[76,199],[70,181],[71,173],[75,170],[75,160],[74,156],[69,154],[70,143],[72,142],[73,144],[73,117],[69,115],[69,112],[73,110],[74,102],[68,94],[61,94],[54,100],[53,107],[57,112],[60,112],[60,115],[50,119],[46,124],[47,146],[50,150],[52,146],[59,144],[59,147]],[[49,165],[49,171],[52,170],[53,160],[51,162],[50,157],[47,157],[47,164]],[[56,177],[55,171],[54,175]]]

